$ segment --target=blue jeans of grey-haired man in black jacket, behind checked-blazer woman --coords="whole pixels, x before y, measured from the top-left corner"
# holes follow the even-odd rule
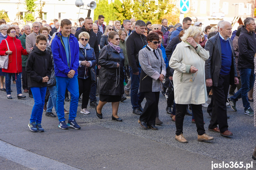
[[[130,76],[131,76],[131,104],[132,104],[133,110],[139,109],[139,105],[141,105],[141,102],[145,98],[144,93],[142,92],[138,93],[141,68],[138,67],[138,69],[139,69],[139,75],[134,75],[132,68],[129,67]]]

